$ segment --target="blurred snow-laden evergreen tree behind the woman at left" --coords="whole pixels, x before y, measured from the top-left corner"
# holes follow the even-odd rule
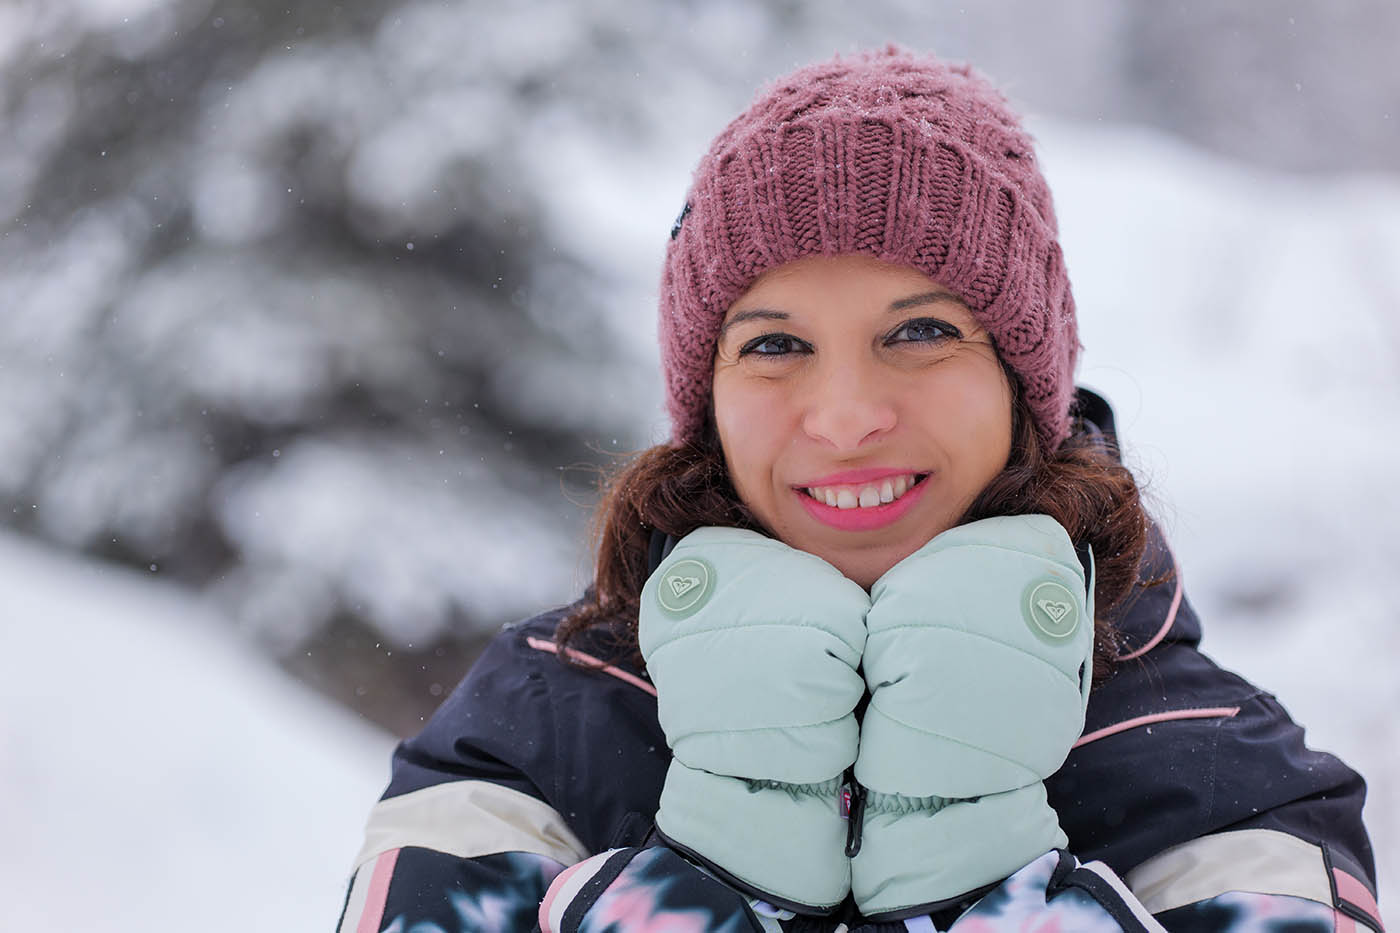
[[[641,122],[599,97],[619,10],[484,7],[0,24],[10,523],[206,586],[399,728],[462,643],[567,597],[560,469],[647,440],[654,396],[547,223],[567,164],[521,157],[552,122]]]

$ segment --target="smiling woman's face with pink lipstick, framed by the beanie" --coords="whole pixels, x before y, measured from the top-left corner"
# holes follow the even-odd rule
[[[714,415],[743,503],[869,588],[1011,455],[1011,387],[949,290],[867,256],[770,270],[725,315]]]

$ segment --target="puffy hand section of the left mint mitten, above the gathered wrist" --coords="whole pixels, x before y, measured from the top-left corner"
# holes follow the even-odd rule
[[[710,579],[694,586],[708,591],[678,618],[658,590],[696,562]],[[791,783],[840,775],[855,759],[868,608],[836,567],[780,541],[736,528],[686,535],[647,580],[638,623],[676,759]]]

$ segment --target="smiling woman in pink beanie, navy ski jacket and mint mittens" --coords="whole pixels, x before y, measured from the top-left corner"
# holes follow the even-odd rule
[[[760,94],[661,347],[595,586],[399,747],[342,930],[1380,927],[1364,783],[1196,650],[979,76]]]

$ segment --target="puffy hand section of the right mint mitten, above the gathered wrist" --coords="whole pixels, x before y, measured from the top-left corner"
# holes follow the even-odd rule
[[[892,567],[871,597],[862,785],[974,797],[1060,768],[1084,728],[1093,601],[1058,523],[960,525]]]

